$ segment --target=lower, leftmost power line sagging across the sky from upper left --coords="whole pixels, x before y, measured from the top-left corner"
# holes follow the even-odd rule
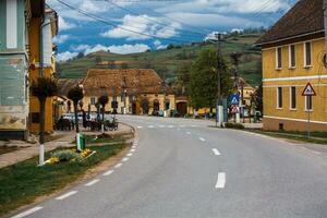
[[[71,4],[62,1],[62,0],[57,0],[59,3],[68,7],[69,9],[73,10],[73,11],[76,11],[78,12],[80,14],[83,14],[89,19],[93,19],[95,21],[98,21],[100,23],[104,23],[106,25],[109,25],[109,26],[113,26],[116,28],[120,28],[120,29],[123,29],[123,31],[126,31],[126,32],[130,32],[130,33],[134,33],[134,34],[137,34],[137,35],[142,35],[142,36],[146,36],[146,37],[149,37],[149,38],[156,38],[156,39],[160,39],[160,40],[166,40],[166,41],[174,41],[174,43],[183,43],[183,44],[190,44],[190,43],[193,43],[193,41],[185,41],[185,40],[180,40],[180,39],[170,39],[170,38],[165,38],[165,37],[159,37],[159,36],[154,36],[154,35],[149,35],[149,34],[145,34],[145,33],[141,33],[141,32],[136,32],[136,31],[133,31],[133,29],[129,29],[129,28],[124,28],[122,26],[119,26],[117,24],[113,24],[111,22],[108,22],[106,20],[104,20],[102,17],[99,17],[99,16],[96,16],[94,14],[90,14],[90,13],[87,13],[81,9],[77,9],[75,7],[72,7]]]

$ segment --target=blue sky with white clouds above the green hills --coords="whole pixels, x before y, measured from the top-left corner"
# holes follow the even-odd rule
[[[47,0],[59,14],[58,60],[204,40],[213,32],[268,27],[296,0]]]

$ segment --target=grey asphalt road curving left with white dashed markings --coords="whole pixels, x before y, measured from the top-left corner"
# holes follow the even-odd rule
[[[120,117],[138,138],[112,169],[17,217],[326,218],[327,149],[207,121]]]

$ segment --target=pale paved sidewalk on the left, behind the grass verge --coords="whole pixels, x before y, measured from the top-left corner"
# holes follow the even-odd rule
[[[90,132],[90,131],[81,131],[84,134],[100,134],[100,132]],[[118,135],[118,134],[133,134],[134,130],[123,123],[119,124],[118,131],[107,131],[106,134],[109,135]],[[53,150],[58,147],[71,147],[71,144],[75,140],[75,132],[73,131],[56,131],[55,134],[63,135],[63,137],[45,143],[46,152]],[[1,141],[0,141],[1,142]],[[29,144],[21,141],[12,141],[7,146],[19,146],[21,147],[19,150],[14,150],[11,153],[7,153],[0,155],[0,168],[8,167],[14,165],[16,162],[33,158],[38,155],[39,146],[38,144]]]

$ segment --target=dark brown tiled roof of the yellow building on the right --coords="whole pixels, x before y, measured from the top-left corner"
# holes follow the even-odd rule
[[[262,38],[257,46],[323,32],[324,0],[300,0]]]

